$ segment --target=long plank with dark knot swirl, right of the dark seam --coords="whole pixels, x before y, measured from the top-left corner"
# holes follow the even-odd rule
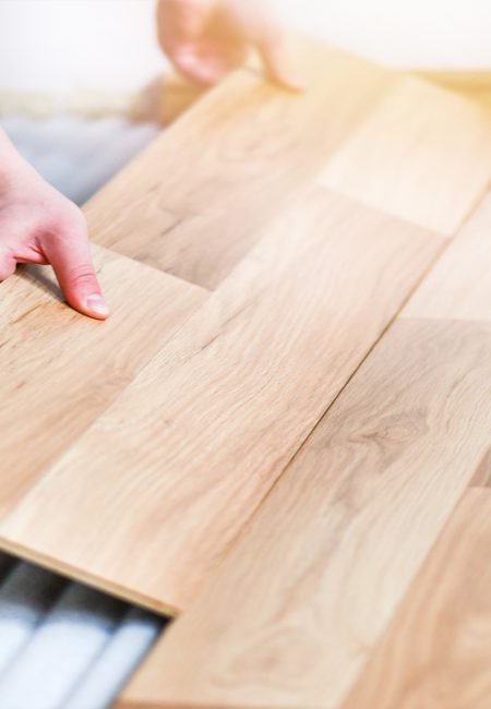
[[[396,321],[118,707],[342,706],[489,445],[490,347]]]

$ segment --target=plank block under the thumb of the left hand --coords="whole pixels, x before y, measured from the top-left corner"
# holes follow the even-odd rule
[[[112,308],[105,323],[62,302],[51,268],[1,286],[0,517],[207,296],[99,247],[94,260]]]

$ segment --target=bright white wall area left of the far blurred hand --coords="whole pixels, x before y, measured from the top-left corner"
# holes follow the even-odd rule
[[[0,89],[127,91],[163,65],[154,0],[0,0]]]

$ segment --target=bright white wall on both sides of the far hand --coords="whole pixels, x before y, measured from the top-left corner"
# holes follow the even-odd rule
[[[165,65],[155,0],[0,0],[0,92],[129,92]],[[395,65],[491,69],[491,0],[277,0],[285,20]]]

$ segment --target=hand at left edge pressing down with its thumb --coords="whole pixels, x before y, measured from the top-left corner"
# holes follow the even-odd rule
[[[51,264],[67,301],[105,320],[82,212],[15,153],[0,132],[0,281],[17,263]],[[1,290],[0,290],[1,298]]]

